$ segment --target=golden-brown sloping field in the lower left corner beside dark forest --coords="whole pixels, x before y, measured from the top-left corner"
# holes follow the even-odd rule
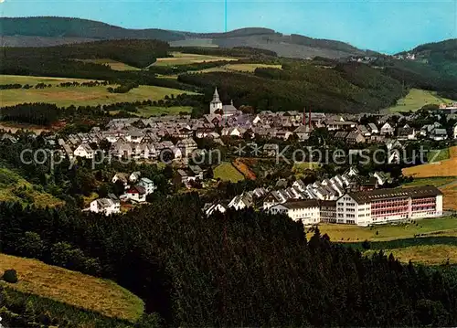
[[[143,313],[143,301],[111,280],[50,266],[36,259],[0,254],[0,275],[8,269],[17,271],[19,281],[7,284],[17,291],[130,321],[136,321]]]

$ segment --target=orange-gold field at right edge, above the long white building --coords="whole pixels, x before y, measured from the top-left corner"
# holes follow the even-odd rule
[[[437,177],[437,176],[455,176],[457,167],[457,146],[449,150],[450,159],[431,164],[421,164],[404,168],[403,175],[418,178]]]

